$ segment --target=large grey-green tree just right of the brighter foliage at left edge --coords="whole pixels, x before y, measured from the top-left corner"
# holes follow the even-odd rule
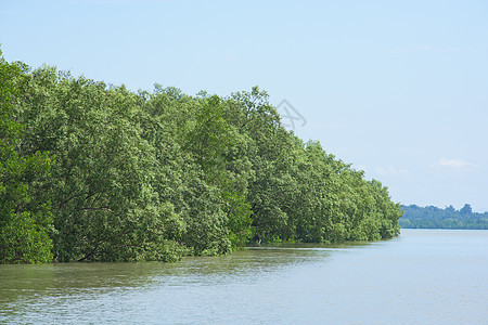
[[[23,150],[57,157],[40,192],[53,205],[55,260],[175,259],[165,251],[178,248],[168,236],[178,214],[152,186],[157,160],[138,123],[140,98],[50,67],[23,87]]]

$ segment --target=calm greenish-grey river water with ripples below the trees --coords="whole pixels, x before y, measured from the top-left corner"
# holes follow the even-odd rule
[[[0,265],[0,324],[488,324],[488,231],[178,263]]]

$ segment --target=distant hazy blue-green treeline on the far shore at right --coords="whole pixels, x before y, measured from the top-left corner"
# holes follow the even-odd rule
[[[415,205],[402,207],[403,217],[398,220],[401,227],[412,229],[488,229],[488,212],[473,212],[471,205],[465,204],[460,210],[449,206],[419,207]]]

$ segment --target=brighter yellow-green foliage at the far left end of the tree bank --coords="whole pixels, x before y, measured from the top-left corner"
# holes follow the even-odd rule
[[[51,159],[39,151],[23,154],[23,128],[14,105],[24,65],[9,64],[0,51],[0,263],[52,260],[49,200],[33,205],[36,183],[48,177]]]

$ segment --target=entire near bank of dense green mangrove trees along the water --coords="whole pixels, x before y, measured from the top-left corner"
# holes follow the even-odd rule
[[[266,92],[132,92],[1,60],[0,261],[172,261],[398,234],[378,181],[280,125]]]

